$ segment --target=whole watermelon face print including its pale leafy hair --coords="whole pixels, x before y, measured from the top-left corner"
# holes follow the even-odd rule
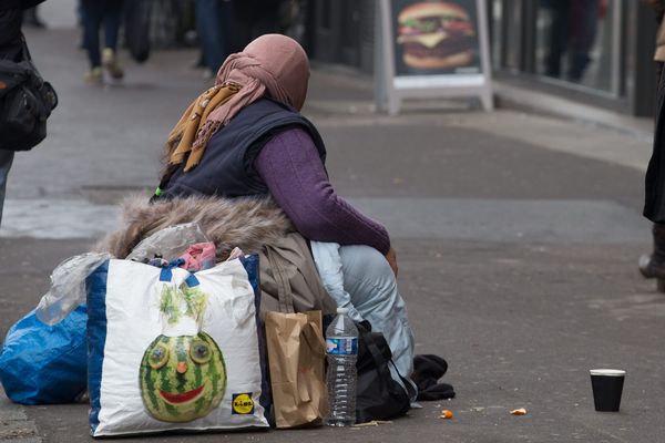
[[[165,285],[160,295],[163,333],[143,353],[139,373],[149,413],[164,422],[190,422],[217,408],[226,392],[222,350],[202,331],[207,295],[195,278],[190,287]]]

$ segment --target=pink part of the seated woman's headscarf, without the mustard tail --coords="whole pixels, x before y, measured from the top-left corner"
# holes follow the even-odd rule
[[[255,39],[243,52],[231,54],[219,68],[215,86],[236,85],[239,91],[208,114],[193,147],[207,143],[243,107],[264,95],[300,111],[308,80],[309,61],[297,41],[282,34]]]

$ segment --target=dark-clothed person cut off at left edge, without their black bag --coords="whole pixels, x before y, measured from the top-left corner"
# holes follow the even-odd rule
[[[22,58],[21,21],[23,10],[44,0],[2,0],[0,2],[0,60],[20,61]],[[0,222],[4,206],[7,176],[13,163],[13,151],[0,150]]]

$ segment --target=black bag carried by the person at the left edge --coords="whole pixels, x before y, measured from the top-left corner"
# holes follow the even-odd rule
[[[32,63],[21,35],[22,60],[0,60],[0,150],[29,151],[47,136],[58,95]]]

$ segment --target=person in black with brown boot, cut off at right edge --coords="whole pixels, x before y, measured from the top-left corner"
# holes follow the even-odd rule
[[[656,34],[656,51],[654,54],[656,68],[656,117],[654,128],[654,145],[646,169],[645,198],[643,215],[653,222],[652,236],[654,250],[651,255],[640,257],[638,269],[645,278],[656,278],[658,291],[665,292],[665,84],[663,64],[665,63],[665,0],[643,0],[656,11],[658,31]]]

